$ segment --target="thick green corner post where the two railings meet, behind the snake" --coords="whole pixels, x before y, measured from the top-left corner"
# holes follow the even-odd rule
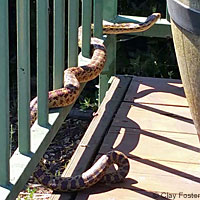
[[[103,19],[113,21],[117,16],[117,0],[103,0]],[[116,74],[116,36],[109,35],[106,40],[107,61],[99,77],[99,104],[108,90],[110,77]]]

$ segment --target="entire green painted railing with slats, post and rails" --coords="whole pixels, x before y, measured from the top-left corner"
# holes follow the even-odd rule
[[[93,5],[93,7],[92,7]],[[68,0],[68,27],[65,27],[65,0],[53,1],[53,88],[63,85],[65,60],[68,67],[89,62],[91,21],[94,35],[102,38],[103,19],[109,22],[144,21],[144,17],[117,14],[117,0],[82,0],[82,52],[78,56],[79,0]],[[93,20],[92,20],[93,11]],[[0,199],[13,200],[23,189],[35,166],[48,148],[73,105],[54,109],[47,106],[49,90],[49,1],[36,1],[37,17],[37,95],[38,120],[32,128],[30,121],[30,1],[17,0],[17,71],[18,71],[18,140],[19,147],[10,158],[9,141],[9,39],[8,0],[0,1]],[[65,54],[65,36],[68,47]],[[10,30],[12,31],[12,30]],[[137,34],[138,35],[138,34]],[[142,36],[170,37],[170,23],[162,19]],[[109,87],[109,79],[116,74],[116,36],[104,36],[107,62],[99,78],[99,99]],[[79,58],[78,58],[79,57]],[[81,89],[85,84],[81,85]]]

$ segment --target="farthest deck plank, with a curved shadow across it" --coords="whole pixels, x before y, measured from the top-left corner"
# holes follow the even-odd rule
[[[124,101],[188,106],[180,80],[134,77]]]

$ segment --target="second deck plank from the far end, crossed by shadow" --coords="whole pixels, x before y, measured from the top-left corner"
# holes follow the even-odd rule
[[[188,107],[123,102],[112,126],[196,133]]]

